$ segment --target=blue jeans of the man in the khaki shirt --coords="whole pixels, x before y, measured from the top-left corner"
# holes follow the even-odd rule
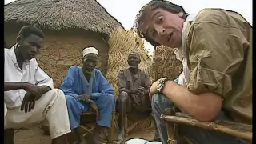
[[[174,106],[174,103],[171,102],[166,96],[162,94],[155,94],[152,98],[152,110],[154,113],[154,118],[158,126],[158,131],[161,139],[164,139],[167,143],[167,129],[166,129],[166,122],[162,122],[160,120],[160,115],[165,112],[167,108],[171,108]],[[223,111],[218,114],[216,118],[218,121],[232,121]],[[189,138],[191,142],[194,144],[217,144],[217,143],[225,143],[225,144],[247,144],[250,142],[244,142],[238,138],[230,137],[226,134],[221,134],[214,131],[202,130],[197,127],[192,126],[182,126],[179,125],[179,130],[182,135]]]

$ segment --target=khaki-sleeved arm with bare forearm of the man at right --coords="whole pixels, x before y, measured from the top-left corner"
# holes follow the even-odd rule
[[[232,90],[232,76],[241,65],[249,42],[234,26],[208,22],[194,24],[190,33],[188,89],[166,82],[163,93],[194,118],[212,121]]]

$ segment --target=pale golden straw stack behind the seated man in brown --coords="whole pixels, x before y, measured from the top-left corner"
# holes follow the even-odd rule
[[[134,51],[138,52],[142,59],[139,68],[146,71],[150,70],[150,58],[144,49],[142,38],[139,38],[138,35],[134,33],[134,30],[115,30],[112,34],[110,34],[109,46],[110,51],[106,78],[108,78],[114,87],[114,95],[118,96],[118,73],[120,70],[128,67],[128,55]],[[116,118],[116,120],[118,120],[118,118]],[[133,118],[132,115],[128,115],[128,127],[137,121],[138,118]],[[139,122],[138,126],[136,126],[134,130],[148,128],[152,126],[152,123],[152,119],[147,118]],[[118,130],[117,121],[115,122],[114,130]]]

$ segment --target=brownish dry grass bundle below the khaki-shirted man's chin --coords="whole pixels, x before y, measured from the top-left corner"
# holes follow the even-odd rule
[[[182,62],[176,59],[174,50],[166,46],[158,46],[154,50],[154,63],[150,68],[153,81],[159,78],[178,78],[182,72]]]

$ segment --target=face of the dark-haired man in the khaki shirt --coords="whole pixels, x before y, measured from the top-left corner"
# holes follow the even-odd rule
[[[171,48],[182,46],[183,13],[173,14],[161,8],[151,10],[142,22],[142,33]]]

